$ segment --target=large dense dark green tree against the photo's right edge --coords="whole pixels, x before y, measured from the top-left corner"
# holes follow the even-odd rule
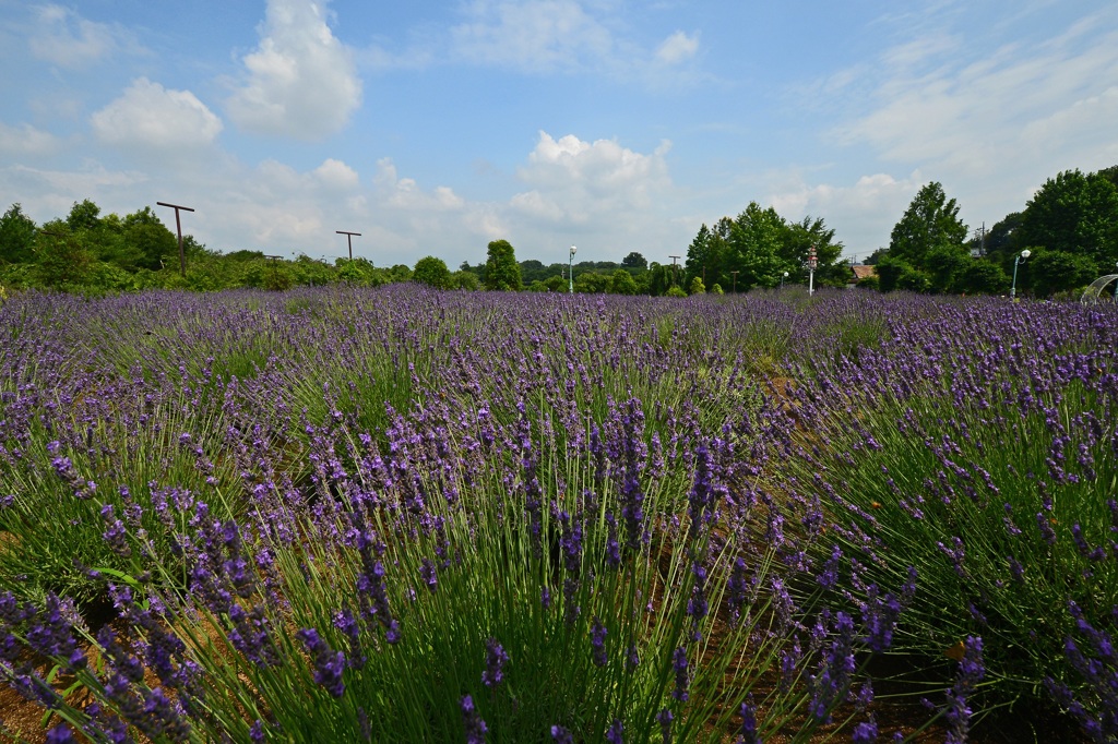
[[[1018,240],[1023,246],[1114,266],[1118,260],[1118,188],[1098,173],[1059,173],[1025,207]]]

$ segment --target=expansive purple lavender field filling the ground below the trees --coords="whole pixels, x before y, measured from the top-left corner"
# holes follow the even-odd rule
[[[1114,306],[19,294],[0,736],[1112,742],[1116,498]]]

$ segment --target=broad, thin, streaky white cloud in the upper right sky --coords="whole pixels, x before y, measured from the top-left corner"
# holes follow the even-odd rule
[[[944,38],[889,49],[868,111],[840,126],[839,139],[960,174],[1030,159],[1063,170],[1088,147],[1112,151],[1118,128],[1107,117],[1114,121],[1118,90],[1118,32],[1089,28],[1080,22],[1044,42],[979,56]]]

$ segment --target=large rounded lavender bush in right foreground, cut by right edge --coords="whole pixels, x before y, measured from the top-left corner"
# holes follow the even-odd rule
[[[1044,706],[1054,679],[1064,707],[1109,715],[1064,647],[1118,611],[1115,314],[928,305],[880,350],[805,366],[795,414],[813,425],[789,422],[781,477],[834,521],[809,552],[860,605],[915,566],[899,643],[946,662],[980,636],[986,708]]]

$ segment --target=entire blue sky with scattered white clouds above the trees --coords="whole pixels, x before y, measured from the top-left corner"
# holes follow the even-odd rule
[[[929,181],[975,229],[1118,164],[1114,0],[0,0],[0,209],[378,266],[667,263],[750,201],[864,257]]]

